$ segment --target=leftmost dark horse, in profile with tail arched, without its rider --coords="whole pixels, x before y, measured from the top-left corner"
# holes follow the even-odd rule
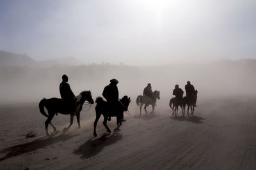
[[[78,99],[78,104],[76,106],[75,111],[69,111],[70,107],[67,106],[67,103],[63,101],[63,99],[58,99],[58,98],[51,98],[51,99],[42,99],[39,103],[39,109],[40,112],[47,117],[47,120],[45,121],[45,131],[46,135],[49,135],[48,132],[48,125],[50,124],[54,132],[56,132],[56,127],[52,124],[52,118],[54,117],[55,114],[61,113],[63,115],[70,115],[70,125],[67,127],[69,128],[73,124],[73,118],[74,115],[77,117],[77,124],[78,127],[80,128],[80,111],[83,108],[83,104],[85,101],[88,101],[90,104],[93,104],[94,101],[92,99],[92,94],[90,91],[83,91],[79,94],[79,96],[76,96]],[[48,111],[48,115],[45,113],[44,107]]]

